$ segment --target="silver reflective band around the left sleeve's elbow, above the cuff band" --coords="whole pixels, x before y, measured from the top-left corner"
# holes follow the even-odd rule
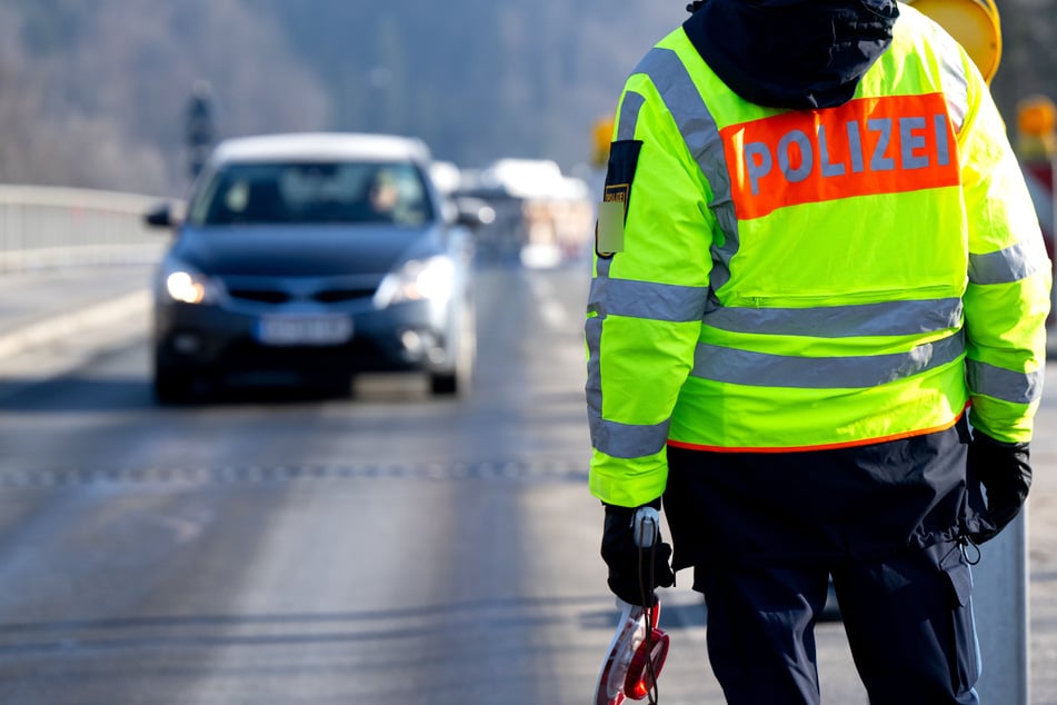
[[[671,322],[699,321],[708,290],[630,279],[595,279],[588,310],[600,316],[634,316]]]

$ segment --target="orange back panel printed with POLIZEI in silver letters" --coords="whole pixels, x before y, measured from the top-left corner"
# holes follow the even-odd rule
[[[958,165],[941,93],[852,100],[720,130],[735,212],[955,186]]]

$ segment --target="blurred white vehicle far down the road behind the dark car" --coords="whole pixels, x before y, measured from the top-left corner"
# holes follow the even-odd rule
[[[562,175],[554,161],[500,159],[463,171],[453,198],[463,207],[483,201],[492,210],[477,232],[485,262],[556,267],[590,251],[595,206],[587,182]]]

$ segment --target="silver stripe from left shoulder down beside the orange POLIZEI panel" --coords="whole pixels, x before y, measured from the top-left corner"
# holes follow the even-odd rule
[[[636,73],[645,73],[660,93],[671,113],[690,156],[712,190],[708,207],[719,222],[725,242],[712,246],[711,288],[718,290],[730,279],[730,258],[738,251],[738,219],[730,196],[727,158],[716,120],[679,56],[671,49],[655,47],[639,62]]]

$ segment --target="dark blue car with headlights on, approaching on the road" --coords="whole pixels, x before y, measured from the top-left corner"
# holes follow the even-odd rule
[[[413,138],[301,133],[217,146],[154,281],[153,390],[319,386],[418,371],[466,390],[476,354],[471,215]]]

